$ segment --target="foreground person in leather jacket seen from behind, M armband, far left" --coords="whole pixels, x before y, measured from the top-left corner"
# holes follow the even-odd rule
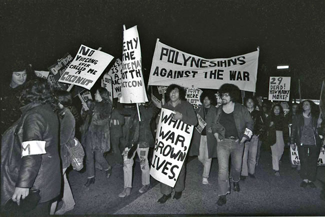
[[[11,198],[33,209],[20,215],[48,215],[61,186],[59,122],[53,111],[57,103],[43,79],[28,81],[19,101],[22,116],[1,141],[1,202]]]

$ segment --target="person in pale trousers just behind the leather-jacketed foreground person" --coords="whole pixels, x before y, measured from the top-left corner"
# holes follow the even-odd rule
[[[71,164],[71,159],[67,150],[67,146],[74,146],[74,133],[75,133],[75,120],[70,112],[72,104],[72,96],[69,92],[64,90],[55,91],[55,97],[58,100],[58,117],[60,125],[60,157],[62,162],[62,175],[63,175],[63,197],[62,207],[55,212],[55,215],[62,215],[67,211],[74,208],[75,202],[71,192],[69,182],[66,178],[66,169]],[[51,213],[53,214],[56,209],[57,201],[51,205]]]

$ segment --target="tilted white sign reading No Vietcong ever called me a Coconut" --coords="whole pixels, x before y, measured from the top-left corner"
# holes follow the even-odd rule
[[[58,81],[90,90],[112,59],[107,53],[81,45]]]

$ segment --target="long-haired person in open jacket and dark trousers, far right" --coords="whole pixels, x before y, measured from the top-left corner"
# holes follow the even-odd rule
[[[301,103],[299,113],[292,119],[290,145],[292,149],[298,148],[300,159],[301,188],[316,188],[313,181],[316,180],[317,160],[321,147],[321,140],[317,128],[321,123],[318,120],[319,111],[310,100]],[[317,123],[319,122],[319,123]]]

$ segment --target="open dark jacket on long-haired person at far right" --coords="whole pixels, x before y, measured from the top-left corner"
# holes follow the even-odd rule
[[[298,114],[295,115],[292,119],[292,126],[291,126],[291,136],[290,136],[290,144],[296,144],[296,145],[302,145],[301,144],[301,131],[303,128],[304,120],[303,120],[303,115]],[[318,129],[317,129],[317,118],[312,116],[311,119],[311,124],[312,124],[312,130],[313,130],[313,138],[315,141],[315,145],[320,147],[321,146],[321,140],[318,134]],[[319,129],[320,130],[320,129]]]

